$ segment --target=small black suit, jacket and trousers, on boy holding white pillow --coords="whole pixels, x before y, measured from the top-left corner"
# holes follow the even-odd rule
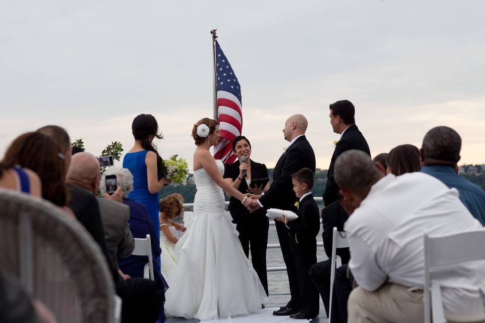
[[[289,249],[295,257],[298,287],[302,306],[300,312],[316,316],[319,312],[318,291],[309,276],[310,267],[317,262],[316,236],[320,230],[318,206],[313,195],[305,196],[298,208],[298,219],[288,221]]]

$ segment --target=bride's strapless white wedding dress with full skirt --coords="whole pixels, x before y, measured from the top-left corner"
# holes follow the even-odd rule
[[[223,173],[221,160],[216,164]],[[167,279],[165,309],[175,316],[201,320],[256,312],[266,294],[226,215],[222,189],[204,169],[193,172],[193,177],[195,219]]]

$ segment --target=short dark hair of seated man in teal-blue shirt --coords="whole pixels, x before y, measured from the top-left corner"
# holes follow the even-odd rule
[[[434,159],[454,165],[460,159],[461,137],[450,127],[434,127],[424,136],[422,149],[425,162]]]

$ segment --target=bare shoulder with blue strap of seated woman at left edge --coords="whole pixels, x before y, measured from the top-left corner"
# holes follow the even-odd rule
[[[35,172],[15,165],[0,162],[0,187],[24,192],[32,196],[42,196],[40,179]]]

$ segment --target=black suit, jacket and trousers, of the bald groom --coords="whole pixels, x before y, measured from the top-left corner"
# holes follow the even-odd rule
[[[315,153],[307,138],[298,137],[293,144],[279,157],[273,173],[273,183],[269,190],[259,199],[264,208],[279,208],[297,211],[295,202],[298,200],[293,192],[292,174],[308,168],[315,173]],[[287,307],[298,310],[301,308],[300,290],[295,266],[295,256],[289,250],[288,233],[284,223],[276,221],[276,232],[281,246],[281,253],[288,274],[289,291],[292,298]]]

